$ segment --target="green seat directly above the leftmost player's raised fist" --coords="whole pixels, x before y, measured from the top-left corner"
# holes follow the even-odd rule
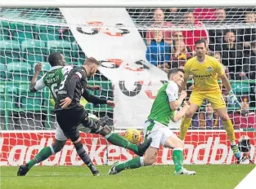
[[[45,42],[40,40],[25,40],[21,43],[21,56],[29,64],[43,62],[46,56]]]

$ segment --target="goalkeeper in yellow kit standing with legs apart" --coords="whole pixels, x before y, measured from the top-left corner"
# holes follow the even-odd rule
[[[230,82],[224,73],[222,65],[217,59],[206,55],[207,48],[204,40],[195,42],[195,52],[196,56],[189,59],[184,66],[185,78],[181,90],[185,89],[186,80],[190,75],[192,75],[194,79],[194,89],[190,97],[190,108],[186,111],[186,114],[182,119],[179,137],[182,140],[185,139],[186,131],[191,125],[192,116],[194,116],[197,109],[200,108],[204,99],[208,99],[212,104],[213,109],[218,112],[218,115],[222,119],[223,126],[227,131],[227,136],[231,142],[231,149],[239,162],[241,153],[236,146],[234,128],[227,114],[227,107],[222,97],[222,91],[218,86],[218,77],[222,80],[222,84],[226,87],[227,91],[229,91],[230,103],[236,105],[240,105],[240,103],[231,89]]]

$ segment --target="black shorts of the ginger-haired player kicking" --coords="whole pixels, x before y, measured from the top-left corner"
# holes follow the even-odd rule
[[[63,130],[66,138],[70,138],[72,142],[79,139],[80,134],[78,125],[88,116],[85,109],[66,109],[56,111],[56,120]]]

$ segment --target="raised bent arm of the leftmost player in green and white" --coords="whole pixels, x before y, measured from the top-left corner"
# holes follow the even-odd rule
[[[34,76],[32,77],[32,80],[30,81],[30,87],[29,90],[30,92],[37,92],[38,90],[43,89],[43,87],[45,86],[43,83],[43,78],[41,80],[38,81],[38,75],[42,70],[42,64],[38,63],[35,65],[34,67]]]

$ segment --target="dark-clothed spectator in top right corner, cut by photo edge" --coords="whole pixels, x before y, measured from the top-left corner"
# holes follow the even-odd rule
[[[238,41],[243,42],[245,49],[249,49],[250,42],[256,41],[256,29],[254,28],[255,19],[256,17],[254,12],[245,13],[245,24],[248,28],[238,29]]]

